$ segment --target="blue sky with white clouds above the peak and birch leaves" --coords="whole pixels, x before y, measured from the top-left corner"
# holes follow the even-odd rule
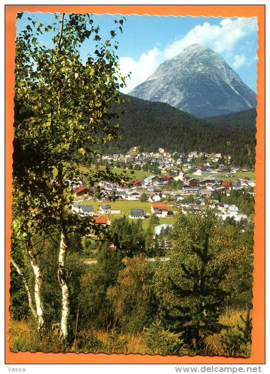
[[[50,13],[25,13],[17,21],[17,32],[29,23],[27,17],[35,17],[41,23],[55,22]],[[173,58],[191,44],[212,48],[239,74],[245,84],[256,91],[257,80],[257,19],[192,17],[192,16],[137,16],[127,15],[123,33],[118,33],[117,54],[121,72],[126,75],[128,93],[146,80],[164,60]],[[120,15],[93,15],[94,23],[100,27],[100,36],[110,37],[115,29],[114,19]],[[50,44],[50,34],[40,37],[45,45]],[[93,52],[93,42],[87,41],[81,49],[81,58]]]

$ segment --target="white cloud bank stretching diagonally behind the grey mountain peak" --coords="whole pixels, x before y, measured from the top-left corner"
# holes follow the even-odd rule
[[[234,55],[235,44],[243,37],[257,30],[256,17],[224,18],[219,25],[210,25],[209,22],[197,25],[163,51],[158,48],[151,49],[147,53],[143,53],[137,61],[131,57],[121,57],[121,73],[126,75],[128,72],[132,72],[131,78],[126,80],[127,87],[123,92],[130,92],[153,74],[158,65],[164,60],[173,58],[192,44],[200,44],[212,48],[215,52],[221,53],[227,62],[234,69],[237,69],[245,63],[245,56],[243,54]]]

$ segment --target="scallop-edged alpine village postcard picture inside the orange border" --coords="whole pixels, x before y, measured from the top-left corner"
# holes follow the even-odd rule
[[[258,18],[15,26],[8,349],[250,357]]]

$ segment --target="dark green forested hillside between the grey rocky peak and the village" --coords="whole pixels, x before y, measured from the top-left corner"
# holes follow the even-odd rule
[[[123,95],[123,98],[124,103],[119,108],[125,111],[119,122],[121,139],[108,143],[107,152],[124,153],[134,146],[140,146],[140,151],[148,152],[157,151],[160,147],[169,152],[221,152],[231,155],[236,164],[254,165],[255,110],[206,120],[166,103],[150,102],[128,95]]]

